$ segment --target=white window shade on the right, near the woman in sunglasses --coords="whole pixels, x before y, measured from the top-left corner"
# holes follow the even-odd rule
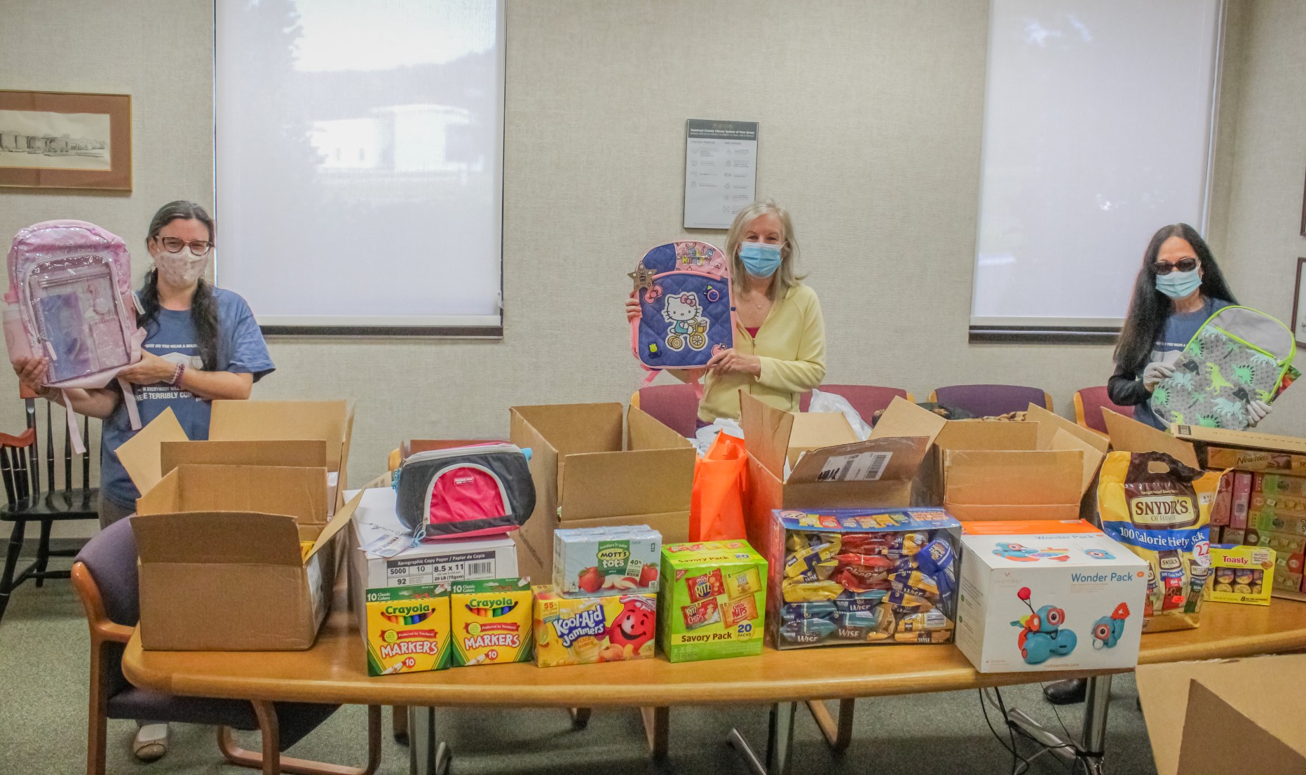
[[[1205,231],[1220,0],[993,0],[970,327],[1119,327]]]

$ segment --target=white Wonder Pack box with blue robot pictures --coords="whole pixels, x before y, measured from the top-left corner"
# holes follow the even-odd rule
[[[963,528],[956,644],[977,670],[1138,664],[1147,563],[1128,548],[1085,521]]]

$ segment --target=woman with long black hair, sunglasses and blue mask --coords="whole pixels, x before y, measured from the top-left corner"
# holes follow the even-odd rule
[[[1107,383],[1111,401],[1134,406],[1135,420],[1169,429],[1152,413],[1152,391],[1174,374],[1179,353],[1202,324],[1237,303],[1196,229],[1174,223],[1153,234],[1115,345],[1115,374]],[[1269,414],[1269,404],[1252,401],[1247,413],[1255,425]]]

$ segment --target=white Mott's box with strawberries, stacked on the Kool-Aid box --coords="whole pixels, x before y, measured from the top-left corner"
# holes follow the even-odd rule
[[[567,597],[657,592],[662,533],[648,525],[554,531],[554,589]]]

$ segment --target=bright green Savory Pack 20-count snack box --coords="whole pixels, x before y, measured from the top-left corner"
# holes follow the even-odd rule
[[[747,541],[662,548],[658,644],[683,663],[761,653],[767,559]]]

